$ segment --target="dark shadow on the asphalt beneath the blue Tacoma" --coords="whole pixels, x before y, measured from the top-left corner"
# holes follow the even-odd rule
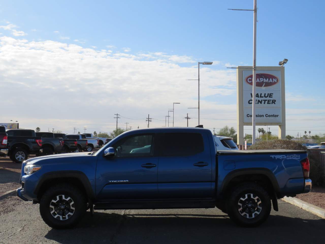
[[[219,212],[219,211],[218,211]],[[271,215],[256,228],[236,226],[227,215],[95,212],[74,229],[51,229],[45,238],[71,243],[324,243],[325,220]],[[306,233],[310,233],[307,234]],[[313,233],[313,234],[311,234]]]

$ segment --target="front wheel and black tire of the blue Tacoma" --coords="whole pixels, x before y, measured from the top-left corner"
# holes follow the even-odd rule
[[[57,200],[58,203],[53,203],[52,200]],[[60,207],[65,207],[64,205],[68,208],[60,211]],[[70,208],[74,208],[74,210]],[[40,200],[42,219],[48,226],[55,229],[68,229],[78,224],[84,216],[86,208],[85,194],[78,187],[71,184],[62,183],[48,188]],[[64,212],[68,214],[65,215]]]

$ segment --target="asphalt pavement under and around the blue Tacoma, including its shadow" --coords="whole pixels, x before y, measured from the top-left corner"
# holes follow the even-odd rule
[[[325,220],[279,200],[256,228],[236,226],[214,209],[87,211],[74,228],[47,226],[39,205],[8,197],[0,202],[0,243],[324,243]]]

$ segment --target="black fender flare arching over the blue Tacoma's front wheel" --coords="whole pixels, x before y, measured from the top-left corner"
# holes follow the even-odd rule
[[[90,199],[95,198],[95,193],[91,187],[88,177],[83,172],[77,170],[54,171],[43,174],[37,182],[34,194],[38,195],[38,192],[45,181],[55,178],[77,178],[83,184],[87,197]]]

